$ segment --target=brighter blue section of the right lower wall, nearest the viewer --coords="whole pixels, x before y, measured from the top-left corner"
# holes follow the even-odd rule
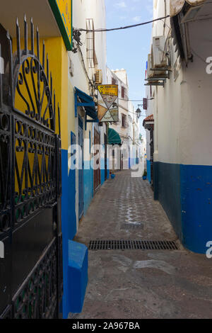
[[[181,166],[183,242],[194,252],[206,253],[212,241],[212,166]]]

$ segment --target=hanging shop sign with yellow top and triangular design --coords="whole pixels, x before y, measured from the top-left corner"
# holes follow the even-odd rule
[[[119,121],[119,89],[117,84],[98,86],[98,119],[102,123]]]

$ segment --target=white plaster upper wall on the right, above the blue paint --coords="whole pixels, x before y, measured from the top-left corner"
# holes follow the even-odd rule
[[[154,18],[164,16],[164,1],[155,0],[155,4]],[[153,36],[163,33],[167,36],[169,21],[167,19],[165,28],[160,21],[154,23]],[[153,88],[155,100],[151,102],[147,115],[153,113],[155,119],[154,159],[176,164],[211,165],[212,75],[206,74],[207,64],[204,63],[212,55],[208,21],[189,23],[189,37],[194,62],[189,62],[188,67],[182,63],[176,81],[172,72],[165,88]],[[171,43],[172,68],[176,59],[174,49]]]

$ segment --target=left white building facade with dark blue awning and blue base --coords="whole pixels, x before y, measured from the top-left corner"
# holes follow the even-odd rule
[[[70,210],[76,212],[76,229],[90,205],[95,191],[107,179],[105,158],[99,160],[99,169],[93,170],[93,145],[106,143],[107,126],[100,126],[97,118],[97,90],[99,83],[106,83],[106,33],[94,33],[105,28],[105,0],[73,0],[73,52],[69,52],[69,188]],[[80,35],[75,29],[83,29]],[[72,170],[71,157],[74,144],[80,145],[83,154],[76,158],[78,168]],[[73,151],[72,151],[73,150]],[[106,169],[106,170],[105,170]],[[73,186],[75,182],[76,186]],[[70,212],[73,215],[73,213]],[[76,230],[75,230],[76,232]]]

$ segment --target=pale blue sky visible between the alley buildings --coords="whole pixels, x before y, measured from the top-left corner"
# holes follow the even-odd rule
[[[105,0],[105,6],[107,28],[129,26],[151,21],[153,18],[153,0]],[[107,32],[107,66],[110,69],[126,69],[129,99],[143,100],[145,97],[143,84],[151,28],[152,23],[149,23],[146,26]],[[139,103],[142,102],[134,103],[135,108]]]

